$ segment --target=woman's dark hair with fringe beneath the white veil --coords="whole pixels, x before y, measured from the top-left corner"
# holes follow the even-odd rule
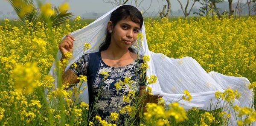
[[[123,5],[114,10],[111,13],[110,21],[113,23],[113,27],[115,27],[116,23],[120,20],[123,20],[127,17],[130,17],[133,22],[140,23],[140,28],[143,25],[143,17],[140,11],[131,5]],[[108,31],[106,31],[106,39],[105,41],[99,46],[99,51],[107,50],[108,46],[110,45],[111,41],[111,34]],[[135,52],[136,50],[133,48],[129,48],[131,52]]]

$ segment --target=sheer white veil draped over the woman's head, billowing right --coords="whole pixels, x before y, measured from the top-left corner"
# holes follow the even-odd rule
[[[116,8],[119,7],[120,6],[117,6]],[[70,64],[82,56],[84,43],[89,43],[91,46],[85,53],[99,51],[99,45],[105,40],[105,32],[111,13],[116,10],[116,8],[113,8],[86,27],[70,33],[74,36],[76,41],[73,43],[74,51],[66,70],[69,69]],[[148,62],[149,68],[146,71],[146,75],[157,76],[157,82],[155,84],[150,84],[149,86],[152,88],[153,95],[163,96],[166,104],[178,101],[185,109],[197,107],[198,109],[210,110],[211,104],[216,104],[215,92],[224,92],[224,90],[230,88],[232,90],[237,89],[238,92],[241,93],[241,96],[238,99],[235,99],[234,104],[241,107],[253,106],[253,91],[248,89],[248,84],[250,84],[250,82],[247,78],[225,76],[214,71],[207,73],[201,65],[191,57],[174,59],[169,58],[162,53],[151,52],[148,49],[144,22],[140,31],[143,34],[143,41],[138,41],[139,44],[141,44],[138,50],[139,54],[148,55],[150,57],[150,61]],[[60,60],[61,56],[61,52],[58,50],[55,61]],[[55,63],[52,64],[49,74],[55,78],[54,83],[55,87],[57,87],[58,79],[54,68]],[[87,84],[85,83],[84,86],[87,86]],[[188,90],[192,95],[192,100],[190,102],[182,99],[184,90]],[[80,100],[88,103],[88,90],[85,90],[80,94]],[[217,108],[219,107],[221,106],[218,106]],[[230,122],[230,125],[236,125],[236,118],[231,116]]]

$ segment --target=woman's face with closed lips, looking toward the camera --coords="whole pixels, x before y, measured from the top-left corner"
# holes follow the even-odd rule
[[[112,23],[112,22],[111,22]],[[140,24],[133,22],[130,17],[120,20],[111,30],[111,42],[119,48],[128,49],[136,42]]]

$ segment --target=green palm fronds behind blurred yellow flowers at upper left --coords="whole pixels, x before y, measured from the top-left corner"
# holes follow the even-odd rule
[[[36,8],[33,0],[8,1],[19,17],[21,25],[23,25],[25,28],[26,20],[33,23],[33,28],[38,21],[48,22],[50,23],[49,25],[56,26],[64,23],[67,19],[73,16],[72,13],[67,13],[67,10],[63,9],[63,7],[51,7],[50,4],[42,5],[41,3],[38,3],[41,8]],[[47,12],[47,15],[44,13],[44,11]]]

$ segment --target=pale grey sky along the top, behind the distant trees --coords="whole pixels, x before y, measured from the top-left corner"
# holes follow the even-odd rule
[[[132,1],[133,0],[130,0],[130,2],[128,4],[134,5],[134,2],[132,2]],[[152,1],[152,3],[150,6],[151,1]],[[67,3],[69,3],[69,6],[70,6],[70,9],[68,10],[68,12],[72,12],[74,14],[74,17],[80,16],[81,18],[87,18],[87,19],[98,18],[114,8],[114,6],[112,6],[111,3],[105,3],[105,2],[103,2],[103,0],[84,0],[84,1],[73,0],[72,2],[70,0],[58,0],[58,1],[47,0],[45,2],[52,3],[52,6],[59,6],[62,3],[67,2]],[[81,2],[81,4],[79,4],[79,2]],[[184,6],[185,2],[184,1],[181,1],[181,2]],[[227,0],[224,0],[224,2],[227,2]],[[236,3],[236,2],[237,2],[237,0],[233,1],[233,3]],[[84,5],[84,3],[90,3],[90,4]],[[35,2],[35,4],[36,4],[36,2]],[[141,5],[139,6],[139,9],[140,9],[140,11],[141,10],[145,11],[148,9],[148,11],[147,11],[148,14],[146,14],[145,17],[155,17],[158,14],[160,8],[163,7],[164,4],[165,4],[165,1],[163,1],[163,0],[146,0],[141,3]],[[191,6],[192,6],[192,3],[190,2],[189,8]],[[96,7],[100,8],[100,9],[97,9]],[[198,10],[199,7],[201,7],[201,5],[198,2],[196,2],[193,9]],[[228,7],[228,5],[227,5],[227,7]],[[14,11],[11,4],[7,0],[0,0],[0,8],[1,8],[0,9],[0,19],[5,19],[5,18],[16,19],[16,18],[18,18],[16,12]],[[174,12],[176,15],[170,14],[170,16],[182,16],[183,12],[180,10],[181,10],[180,5],[177,2],[177,0],[173,0],[171,2],[171,11]],[[180,12],[177,12],[177,11],[180,11]],[[1,14],[1,12],[2,12],[2,14]],[[190,13],[190,15],[193,15],[193,11]]]

